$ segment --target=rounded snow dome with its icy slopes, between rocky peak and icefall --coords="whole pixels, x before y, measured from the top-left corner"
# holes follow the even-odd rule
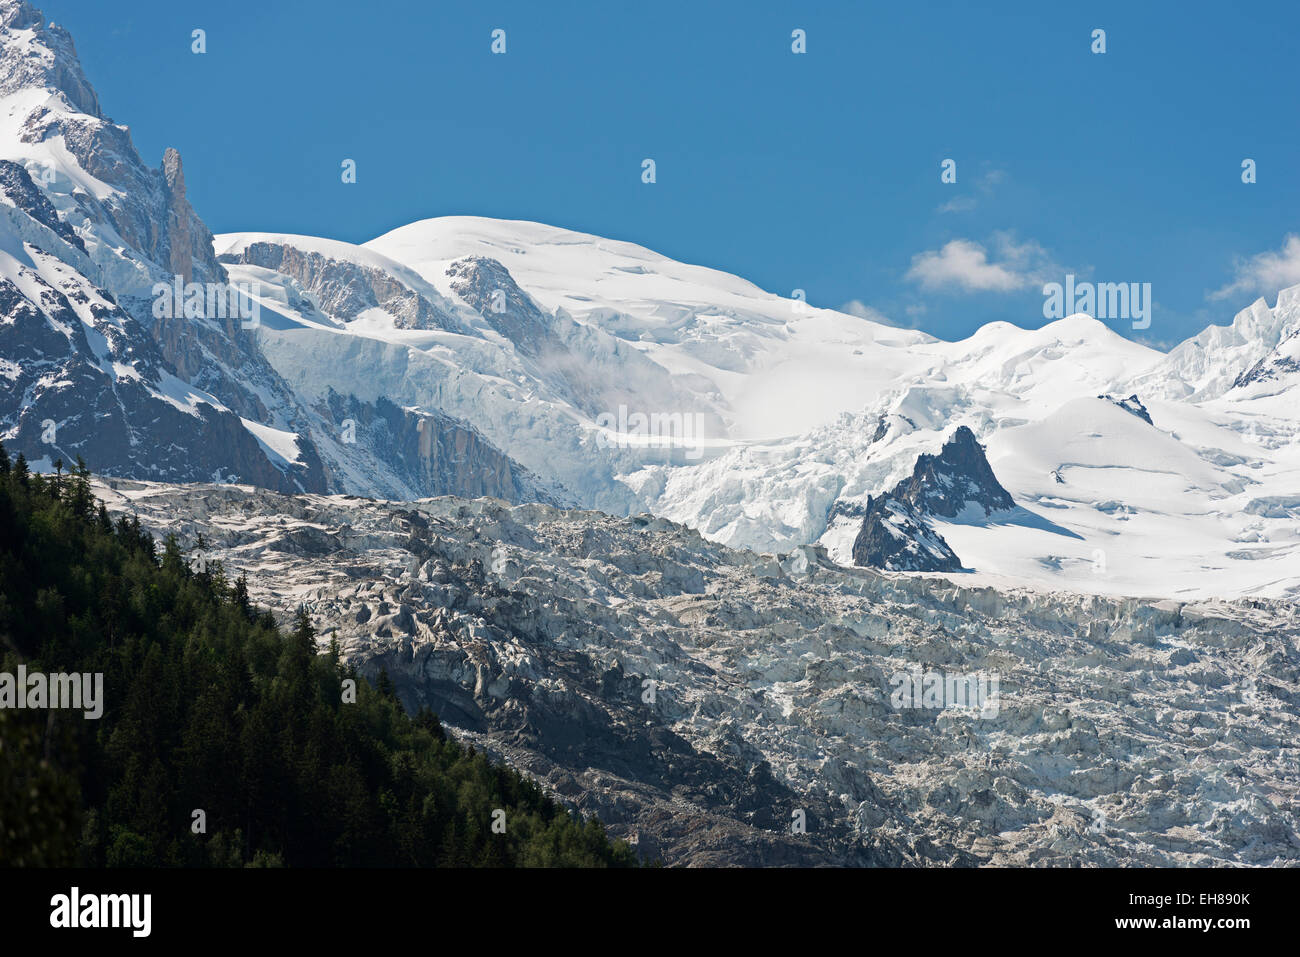
[[[257,332],[261,348],[299,393],[382,393],[446,410],[612,511],[653,506],[627,478],[646,464],[805,432],[874,399],[898,369],[931,363],[907,348],[927,341],[919,333],[802,307],[630,243],[471,217],[398,233],[403,242],[390,234],[365,247],[240,233],[217,237],[216,250],[233,277],[261,285],[276,313]],[[328,265],[309,276],[252,265],[270,246]],[[442,303],[464,334],[403,329],[384,309],[343,315],[330,290],[352,267]],[[681,425],[645,436],[608,424],[638,415]]]

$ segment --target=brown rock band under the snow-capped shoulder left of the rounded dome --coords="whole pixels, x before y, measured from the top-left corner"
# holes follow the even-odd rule
[[[250,243],[240,252],[221,259],[283,273],[315,296],[317,308],[344,322],[351,322],[365,309],[380,307],[393,316],[400,329],[462,332],[455,316],[380,269],[266,242]]]

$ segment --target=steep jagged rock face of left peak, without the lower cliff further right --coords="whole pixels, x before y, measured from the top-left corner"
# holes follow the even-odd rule
[[[29,168],[0,168],[0,229],[26,255],[5,272],[39,274],[52,287],[29,304],[61,339],[36,334],[34,313],[8,296],[0,316],[14,324],[8,334],[22,328],[36,335],[25,345],[39,343],[40,355],[6,352],[26,359],[0,407],[5,439],[32,460],[82,452],[110,473],[176,480],[237,475],[274,489],[324,489],[309,439],[300,445],[299,462],[282,468],[237,417],[266,423],[268,398],[292,404],[239,321],[153,315],[156,282],[177,274],[182,281],[226,281],[212,234],[185,198],[179,155],[169,150],[160,170],[144,165],[126,127],[103,116],[66,31],[47,25],[39,10],[3,0],[0,25],[0,95],[20,104],[39,94],[31,98],[38,105],[22,124],[22,139],[42,144],[61,138],[66,148],[51,151],[46,164],[27,164],[40,172],[39,185]],[[112,189],[98,195],[82,189],[69,176],[68,155],[78,176]],[[30,387],[18,391],[20,384]],[[57,447],[38,442],[31,421],[53,421]],[[40,434],[49,432],[42,428]]]

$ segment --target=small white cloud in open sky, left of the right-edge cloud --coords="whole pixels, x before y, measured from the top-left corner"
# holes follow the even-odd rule
[[[965,293],[1014,293],[1061,272],[1036,242],[1018,243],[1009,233],[994,233],[989,248],[974,239],[952,239],[941,250],[911,257],[904,278],[922,289]]]

